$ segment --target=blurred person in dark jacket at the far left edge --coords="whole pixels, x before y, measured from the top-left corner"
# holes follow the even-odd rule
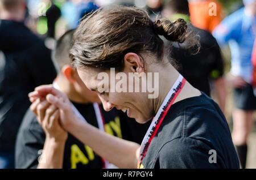
[[[30,106],[27,93],[56,77],[51,52],[24,23],[24,0],[0,0],[0,168],[14,168],[18,128]]]

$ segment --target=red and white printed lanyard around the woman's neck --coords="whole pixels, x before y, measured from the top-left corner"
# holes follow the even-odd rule
[[[148,128],[141,144],[138,168],[141,168],[142,160],[147,154],[147,150],[150,146],[150,143],[152,142],[152,139],[154,139],[156,132],[158,132],[158,129],[163,122],[164,117],[166,117],[168,110],[171,108],[172,104],[174,104],[174,101],[179,95],[181,89],[184,87],[185,82],[186,80],[183,78],[183,76],[179,75],[176,82],[168,92],[166,98],[164,98],[164,101],[160,106],[158,112],[156,113],[155,117],[153,118],[151,125]]]

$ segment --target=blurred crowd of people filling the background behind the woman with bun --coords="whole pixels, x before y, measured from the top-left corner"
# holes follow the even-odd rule
[[[256,110],[254,0],[243,0],[243,7],[226,16],[217,0],[0,0],[0,168],[38,167],[47,134],[29,109],[28,93],[53,81],[89,123],[105,126],[119,138],[142,142],[148,124],[122,121],[127,117],[117,111],[103,112],[69,62],[73,29],[85,15],[113,5],[138,6],[153,21],[163,16],[172,22],[182,18],[189,24],[199,37],[200,50],[183,49],[182,44],[164,40],[170,49],[170,63],[200,91],[211,96],[213,90],[224,113],[227,105],[232,106],[226,103],[226,89],[232,87],[232,138],[241,168],[246,168],[247,139]],[[232,55],[229,72],[221,51],[226,45]],[[99,108],[108,119],[103,125],[97,121]],[[111,167],[94,156],[93,149],[68,136],[64,157],[60,157],[63,168]]]

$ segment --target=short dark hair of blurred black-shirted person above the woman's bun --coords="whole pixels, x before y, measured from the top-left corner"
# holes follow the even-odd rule
[[[165,8],[179,14],[189,15],[189,5],[187,0],[168,0]]]

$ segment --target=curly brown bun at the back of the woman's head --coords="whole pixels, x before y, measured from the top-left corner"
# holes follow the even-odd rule
[[[154,23],[155,32],[164,36],[167,40],[183,43],[186,39],[188,25],[184,19],[171,22],[166,18],[156,19]]]

